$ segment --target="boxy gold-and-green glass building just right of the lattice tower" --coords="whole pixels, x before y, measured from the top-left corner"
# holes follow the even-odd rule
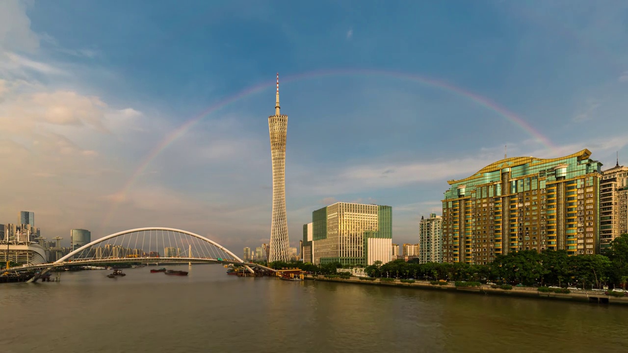
[[[314,264],[367,266],[375,261],[391,261],[393,208],[390,206],[337,202],[312,212],[311,225]],[[307,224],[304,232],[306,227]]]

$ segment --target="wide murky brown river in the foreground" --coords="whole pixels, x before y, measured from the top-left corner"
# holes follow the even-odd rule
[[[628,308],[323,281],[218,265],[0,285],[0,352],[621,352]],[[150,267],[153,268],[153,267]],[[53,274],[54,276],[54,274]]]

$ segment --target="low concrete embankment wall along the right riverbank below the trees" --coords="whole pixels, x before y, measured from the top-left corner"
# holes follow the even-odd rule
[[[394,281],[381,281],[379,279],[374,281],[360,280],[359,278],[325,278],[322,276],[305,276],[306,280],[316,281],[328,281],[328,282],[342,282],[353,283],[357,285],[372,285],[372,286],[394,286],[404,288],[416,288],[423,290],[444,290],[444,291],[457,291],[458,293],[475,293],[482,295],[506,295],[506,296],[524,296],[527,298],[543,298],[554,300],[570,300],[583,303],[600,303],[600,304],[613,304],[613,305],[628,305],[628,296],[617,297],[605,295],[603,291],[572,291],[571,293],[543,293],[536,288],[530,287],[513,287],[511,290],[502,290],[501,288],[492,288],[491,286],[482,285],[480,287],[457,287],[452,282],[447,285],[431,285],[428,281],[415,281],[414,283],[402,283],[399,280]]]

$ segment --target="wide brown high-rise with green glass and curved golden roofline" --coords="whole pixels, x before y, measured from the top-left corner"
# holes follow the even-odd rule
[[[504,158],[448,181],[443,261],[486,264],[512,251],[598,253],[602,163],[583,149],[553,159]]]

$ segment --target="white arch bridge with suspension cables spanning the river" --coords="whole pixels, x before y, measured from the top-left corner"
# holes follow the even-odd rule
[[[240,264],[251,273],[254,273],[253,268],[275,271],[260,264],[245,263],[207,237],[167,227],[117,232],[84,244],[53,263],[16,266],[5,271],[43,269],[29,280],[31,282],[55,267],[111,263],[223,263]]]

